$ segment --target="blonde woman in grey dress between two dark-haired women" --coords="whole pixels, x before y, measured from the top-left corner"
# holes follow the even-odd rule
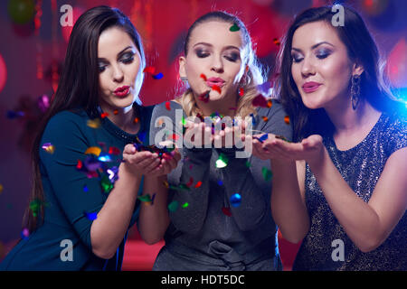
[[[291,127],[284,121],[281,105],[258,97],[257,85],[265,79],[255,60],[241,20],[223,12],[199,18],[189,29],[185,56],[180,58],[180,76],[187,79],[189,89],[181,98],[155,107],[151,141],[159,144],[168,135],[179,141],[184,118],[211,115],[252,115],[252,124],[243,123],[241,135],[248,134],[252,125],[256,134],[290,139]],[[259,98],[263,107],[253,107]],[[243,125],[234,129],[238,127],[240,131]],[[190,132],[209,133],[209,145],[199,143],[198,134],[194,134],[196,145],[188,145]],[[202,123],[186,129],[185,144],[178,145],[182,160],[168,175],[171,223],[154,270],[281,269],[277,227],[270,212],[270,162],[251,155],[239,157],[247,146],[227,147],[231,134],[240,139],[232,126],[213,135]],[[250,135],[241,140],[251,144]],[[216,146],[217,141],[221,145]]]

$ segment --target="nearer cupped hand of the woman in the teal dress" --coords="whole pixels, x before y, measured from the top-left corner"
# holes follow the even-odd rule
[[[158,154],[137,152],[133,144],[127,144],[123,150],[123,163],[126,171],[138,177],[153,172],[160,164]]]

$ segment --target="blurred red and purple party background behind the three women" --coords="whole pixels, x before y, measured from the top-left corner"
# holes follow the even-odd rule
[[[147,66],[162,79],[147,74],[141,98],[157,104],[179,94],[178,57],[188,27],[213,10],[237,14],[247,25],[257,55],[271,69],[279,39],[289,21],[302,10],[331,4],[326,0],[7,0],[0,1],[0,260],[22,232],[31,187],[30,144],[58,79],[71,27],[62,27],[63,5],[71,5],[73,23],[87,9],[110,5],[121,9],[141,34]],[[377,42],[393,92],[407,102],[407,1],[343,0],[354,7]],[[160,242],[148,246],[132,228],[124,270],[150,270]],[[279,235],[285,270],[290,270],[298,245]]]

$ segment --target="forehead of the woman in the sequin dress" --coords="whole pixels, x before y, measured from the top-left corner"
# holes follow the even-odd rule
[[[345,48],[334,27],[325,21],[307,23],[298,27],[292,38],[292,47],[306,50],[319,42],[329,42]]]

